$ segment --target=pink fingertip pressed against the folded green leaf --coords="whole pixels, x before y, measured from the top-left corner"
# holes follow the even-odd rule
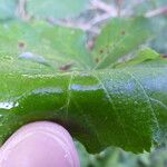
[[[79,167],[69,132],[61,126],[38,121],[13,134],[0,149],[0,167]]]

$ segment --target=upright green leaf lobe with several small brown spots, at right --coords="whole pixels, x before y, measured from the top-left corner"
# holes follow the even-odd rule
[[[96,68],[107,68],[150,38],[149,20],[145,18],[112,19],[97,38],[94,55]]]

